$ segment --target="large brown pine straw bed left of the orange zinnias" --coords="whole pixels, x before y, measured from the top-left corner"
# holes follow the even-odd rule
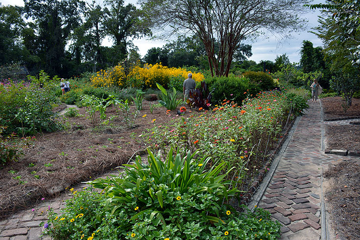
[[[62,109],[64,106],[56,108]],[[115,113],[114,108],[108,109],[108,113]],[[150,113],[149,102],[144,101],[143,110],[130,129],[120,120],[99,129],[85,118],[85,108],[79,109],[82,117],[61,117],[59,121],[68,126],[66,131],[39,134],[34,146],[25,150],[19,161],[0,169],[0,219],[35,204],[42,197],[57,196],[70,185],[127,163],[133,154],[145,149],[138,135],[154,124],[169,122],[165,111],[160,107]],[[147,116],[142,117],[144,114]],[[172,112],[172,117],[175,115],[176,111]],[[153,119],[155,123],[151,122]]]

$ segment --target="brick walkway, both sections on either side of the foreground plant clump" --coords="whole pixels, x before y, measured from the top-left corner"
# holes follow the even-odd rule
[[[360,158],[325,154],[323,148],[323,121],[319,103],[309,103],[305,115],[297,119],[289,143],[284,144],[279,161],[273,162],[269,181],[264,180],[260,202],[252,202],[270,211],[274,219],[282,224],[281,240],[326,240],[330,239],[325,226],[321,173],[329,165],[343,160]],[[275,164],[276,163],[276,164]],[[114,174],[108,173],[107,175]],[[104,175],[106,176],[106,175]],[[79,184],[81,190],[86,184]],[[0,240],[48,240],[42,236],[47,219],[46,210],[51,206],[55,212],[64,207],[64,200],[71,197],[64,192],[52,200],[44,200],[29,209],[19,211],[12,217],[0,221]],[[251,207],[251,206],[250,206]],[[328,238],[327,238],[328,237]]]

